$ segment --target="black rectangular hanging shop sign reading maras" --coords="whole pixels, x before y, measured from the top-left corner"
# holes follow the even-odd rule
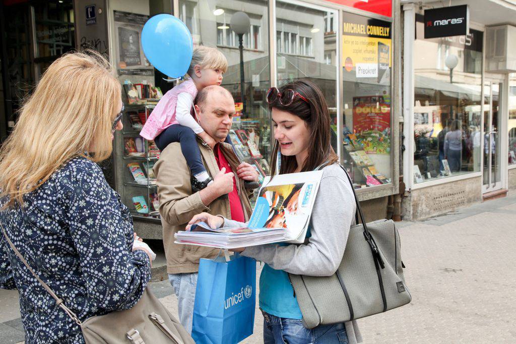
[[[467,35],[469,24],[468,5],[425,10],[425,38]]]

